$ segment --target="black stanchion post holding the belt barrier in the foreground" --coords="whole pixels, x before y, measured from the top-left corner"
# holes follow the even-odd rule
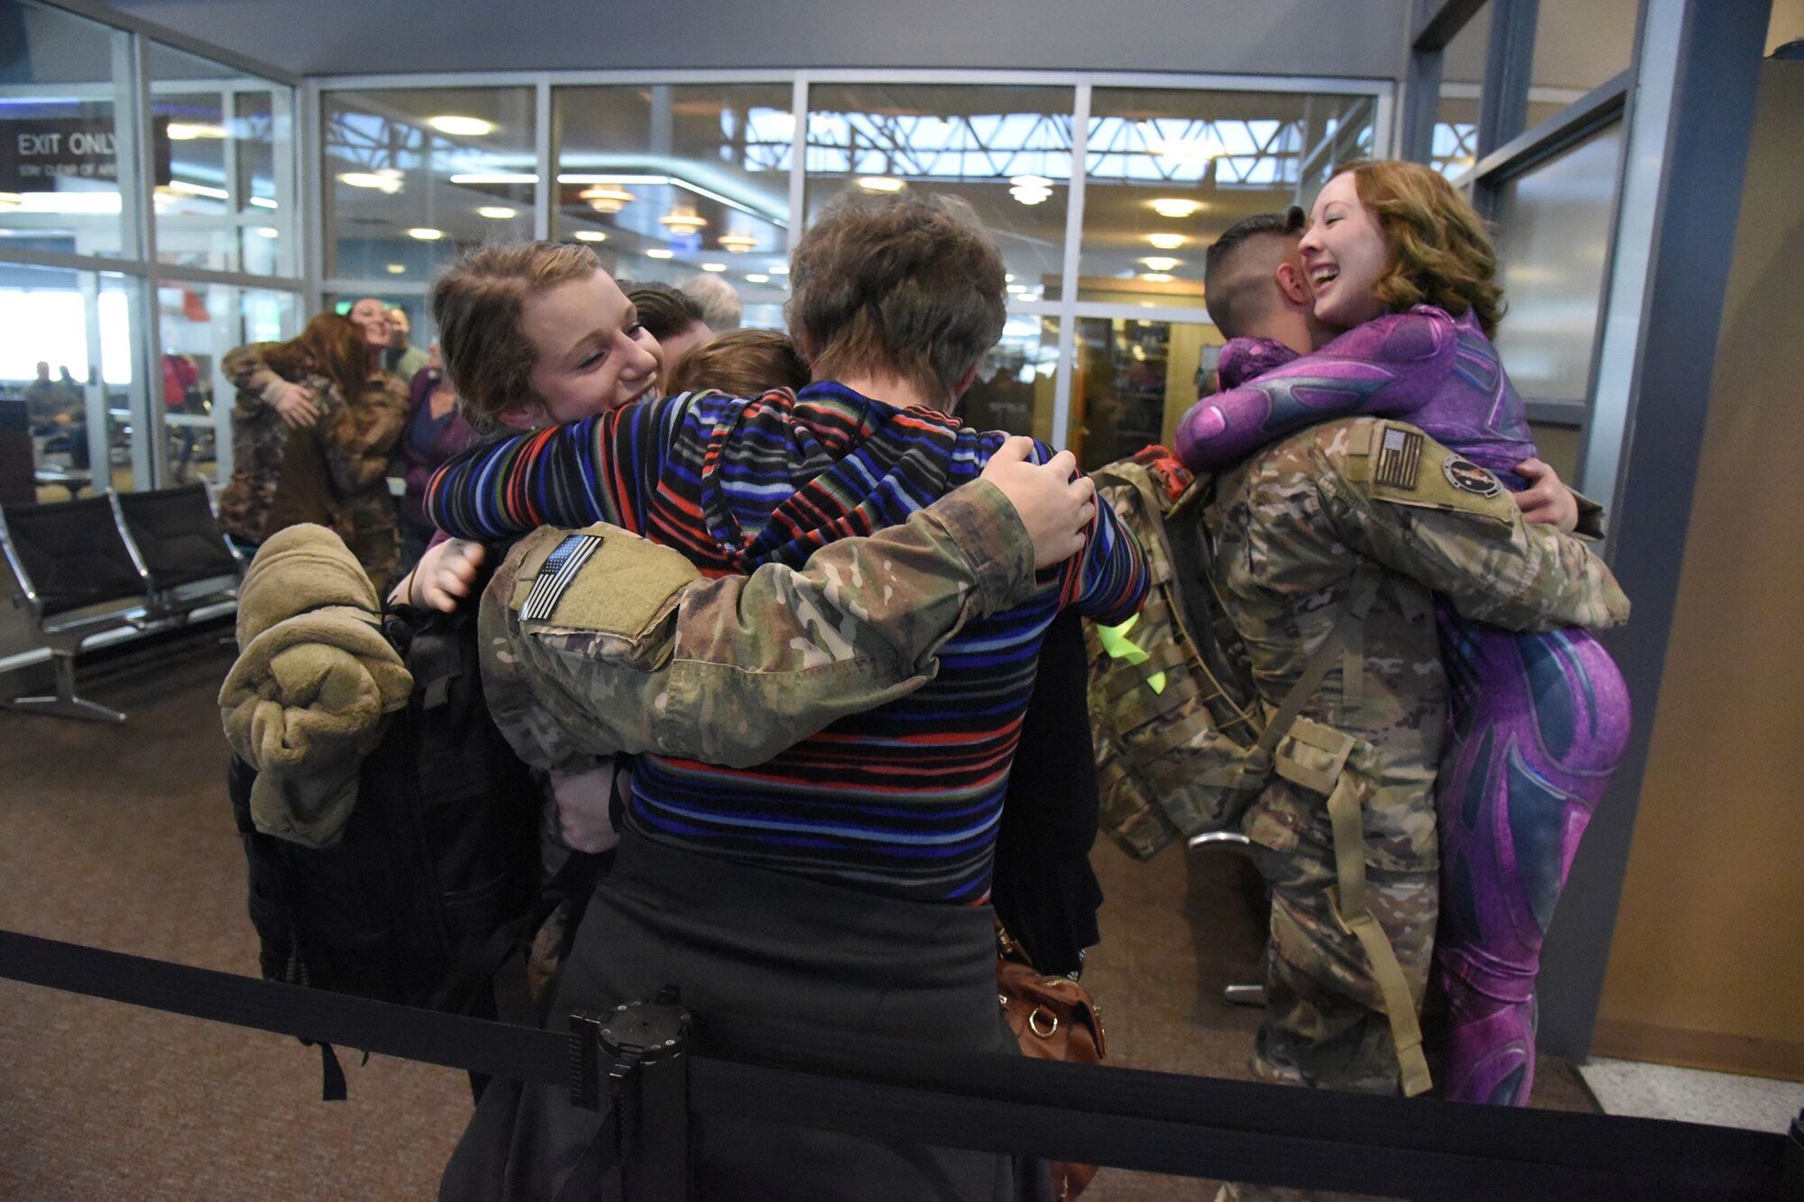
[[[612,1110],[622,1202],[689,1202],[689,1012],[653,1002],[570,1016],[570,1101]]]

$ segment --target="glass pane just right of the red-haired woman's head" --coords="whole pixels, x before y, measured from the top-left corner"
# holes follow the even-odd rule
[[[1528,401],[1588,401],[1615,226],[1622,123],[1503,186],[1497,352]]]

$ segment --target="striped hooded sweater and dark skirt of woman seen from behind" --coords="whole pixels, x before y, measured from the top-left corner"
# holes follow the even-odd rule
[[[841,538],[909,522],[974,480],[1003,439],[830,383],[801,395],[689,393],[469,451],[428,485],[426,509],[465,538],[604,520],[705,576],[799,567]],[[1126,619],[1146,569],[1104,511],[1086,550],[1039,583],[1025,603],[967,621],[913,693],[756,767],[640,756],[619,859],[550,1012],[676,984],[704,1016],[1008,1050],[985,902],[1037,652],[1066,606]],[[496,1108],[485,1096],[442,1197],[556,1193],[599,1124],[536,1086],[491,1123]],[[716,1119],[702,1146],[700,1197],[1005,1198],[1014,1182],[994,1155],[906,1146],[898,1157],[750,1114]]]

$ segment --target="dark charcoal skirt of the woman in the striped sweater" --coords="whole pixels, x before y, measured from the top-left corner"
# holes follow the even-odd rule
[[[548,1014],[682,989],[696,1012],[745,1014],[915,1040],[933,1049],[1017,1050],[996,1003],[989,906],[911,902],[673,850],[635,832],[595,890]],[[440,1198],[550,1198],[601,1115],[563,1090],[494,1081],[446,1166]],[[958,1198],[1037,1195],[1008,1157],[711,1117],[698,1197]],[[1017,1193],[1019,1188],[1025,1191]]]

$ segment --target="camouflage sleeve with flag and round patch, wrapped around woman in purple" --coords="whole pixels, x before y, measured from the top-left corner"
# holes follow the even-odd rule
[[[1571,534],[1528,525],[1503,484],[1404,422],[1315,431],[1321,489],[1353,550],[1505,630],[1602,630],[1629,617],[1609,567]]]

